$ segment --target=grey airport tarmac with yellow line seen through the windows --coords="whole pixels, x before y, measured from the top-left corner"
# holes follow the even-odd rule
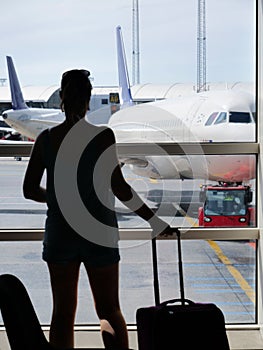
[[[45,205],[25,200],[23,174],[27,160],[0,160],[0,227],[42,228]],[[125,169],[127,181],[160,216],[174,226],[197,225],[198,186],[201,181],[152,181]],[[187,201],[191,202],[190,207]],[[160,205],[161,203],[161,205]],[[121,228],[147,224],[116,203]],[[187,213],[187,216],[184,216]],[[188,227],[187,226],[187,227]],[[138,307],[152,305],[153,280],[149,241],[121,242],[120,295],[127,323],[135,323]],[[214,302],[226,322],[255,323],[255,244],[248,241],[183,241],[186,297]],[[42,242],[0,242],[0,273],[13,273],[26,285],[42,324],[49,324],[51,293],[46,264],[41,259]],[[161,300],[179,297],[175,241],[158,241]],[[77,324],[97,324],[91,293],[81,269]]]

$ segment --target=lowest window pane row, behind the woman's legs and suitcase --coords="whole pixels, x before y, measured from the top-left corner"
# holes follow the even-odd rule
[[[177,242],[158,241],[161,300],[180,297]],[[52,296],[48,270],[41,259],[41,242],[0,242],[0,274],[19,277],[29,291],[40,322],[50,323]],[[147,241],[121,244],[120,294],[128,324],[137,308],[154,304],[151,245]],[[254,240],[182,241],[185,294],[198,302],[215,302],[226,322],[256,322]],[[2,323],[0,317],[0,324]],[[77,324],[97,324],[86,272],[81,269]]]

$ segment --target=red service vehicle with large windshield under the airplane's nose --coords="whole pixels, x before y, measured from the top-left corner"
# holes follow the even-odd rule
[[[199,226],[236,227],[255,224],[255,208],[251,205],[250,186],[220,184],[203,185],[200,192]]]

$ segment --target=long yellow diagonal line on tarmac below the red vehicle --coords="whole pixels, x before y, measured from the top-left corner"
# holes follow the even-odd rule
[[[207,241],[210,247],[215,251],[218,258],[222,261],[222,263],[226,266],[230,274],[234,277],[236,282],[240,285],[243,291],[246,293],[248,298],[255,304],[255,292],[253,288],[248,284],[245,278],[241,275],[241,273],[232,265],[231,261],[224,255],[219,245],[214,241]]]

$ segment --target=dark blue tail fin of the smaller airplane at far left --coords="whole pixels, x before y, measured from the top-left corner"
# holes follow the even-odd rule
[[[26,105],[22,94],[12,57],[6,56],[6,60],[9,75],[9,84],[11,89],[12,108],[14,110],[27,109],[28,106]]]

